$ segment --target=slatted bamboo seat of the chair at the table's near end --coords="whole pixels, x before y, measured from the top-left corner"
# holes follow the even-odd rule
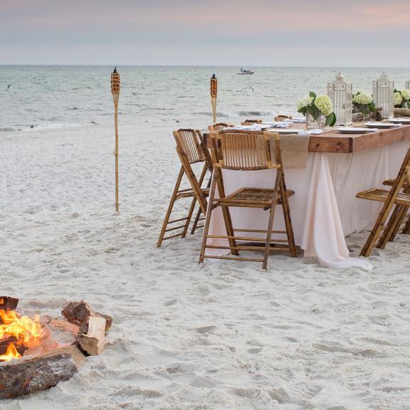
[[[287,190],[286,196],[295,194],[294,191]],[[268,188],[241,188],[217,201],[216,206],[251,206],[255,208],[266,208],[272,204],[273,189]],[[276,196],[276,204],[282,204],[280,193]]]

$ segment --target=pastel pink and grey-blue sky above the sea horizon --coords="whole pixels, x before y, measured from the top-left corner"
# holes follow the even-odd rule
[[[1,64],[410,67],[410,0],[0,0]]]

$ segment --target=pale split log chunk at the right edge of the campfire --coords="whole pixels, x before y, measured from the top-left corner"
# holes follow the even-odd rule
[[[78,344],[90,356],[101,354],[105,345],[106,320],[104,317],[90,316],[88,323],[80,327]]]

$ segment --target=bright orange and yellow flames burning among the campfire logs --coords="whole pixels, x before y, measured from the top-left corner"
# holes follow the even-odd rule
[[[14,337],[16,345],[33,347],[38,345],[42,336],[39,317],[32,320],[28,316],[20,316],[14,310],[0,310],[0,339]],[[7,347],[6,354],[0,355],[0,361],[7,361],[21,357],[16,347],[11,343]]]

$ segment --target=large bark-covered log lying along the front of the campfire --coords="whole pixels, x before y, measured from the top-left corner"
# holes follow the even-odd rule
[[[0,364],[0,398],[12,399],[65,382],[78,371],[76,347]],[[77,349],[78,350],[78,349]],[[80,352],[75,353],[80,360]]]

